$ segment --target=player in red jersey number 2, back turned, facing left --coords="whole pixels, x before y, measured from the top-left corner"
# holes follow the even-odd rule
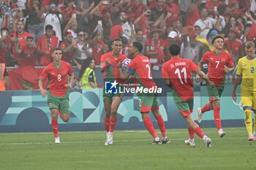
[[[128,70],[134,70],[135,79],[139,82],[142,88],[157,88],[156,83],[152,79],[151,74],[151,63],[148,57],[141,54],[143,50],[143,45],[140,42],[132,42],[129,46],[129,55],[134,58],[128,65]],[[123,72],[121,69],[121,64],[118,64],[119,73],[121,79],[126,80],[129,77],[129,71]],[[167,144],[170,140],[167,138],[165,131],[165,122],[162,115],[159,113],[159,105],[157,101],[157,93],[139,93],[140,98],[140,113],[142,115],[143,123],[145,124],[148,132],[153,136],[153,144]],[[154,117],[157,120],[160,131],[162,133],[162,139],[159,139],[157,131],[149,117],[149,113],[153,112]]]

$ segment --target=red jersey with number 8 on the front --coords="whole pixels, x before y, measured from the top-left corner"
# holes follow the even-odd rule
[[[68,75],[71,76],[72,72],[72,66],[65,61],[61,61],[61,66],[59,68],[56,68],[54,63],[50,63],[43,69],[39,79],[45,80],[48,77],[48,89],[50,94],[63,97],[67,95],[68,88],[65,87],[65,85],[67,84]]]

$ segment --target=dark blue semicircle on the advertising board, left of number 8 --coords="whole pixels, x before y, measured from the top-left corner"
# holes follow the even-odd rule
[[[16,128],[19,132],[50,131],[50,124],[45,112],[37,108],[28,108],[18,115]]]

